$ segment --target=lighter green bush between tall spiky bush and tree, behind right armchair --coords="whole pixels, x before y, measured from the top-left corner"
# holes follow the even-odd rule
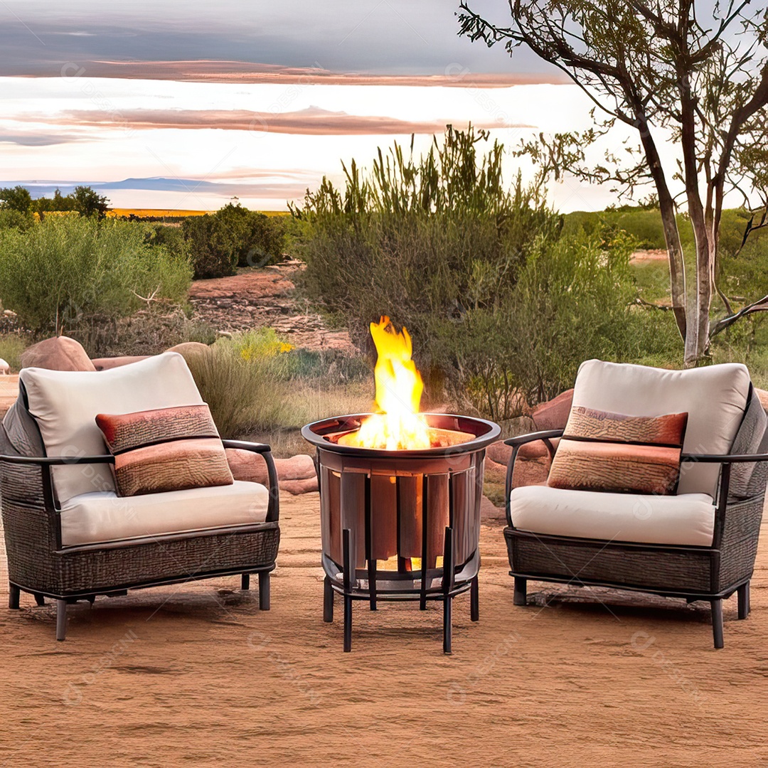
[[[432,338],[455,354],[458,386],[475,409],[510,419],[525,403],[573,386],[585,359],[626,362],[674,349],[674,336],[656,336],[650,313],[630,309],[637,293],[631,245],[626,237],[606,241],[583,233],[539,240],[495,310],[475,310],[452,329],[433,329]]]

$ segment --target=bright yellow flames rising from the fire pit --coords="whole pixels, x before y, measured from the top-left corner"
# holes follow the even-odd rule
[[[389,317],[382,317],[371,323],[371,336],[378,355],[373,370],[378,412],[347,435],[346,444],[388,451],[430,448],[429,426],[419,414],[424,382],[411,359],[410,334],[405,328],[398,333]]]

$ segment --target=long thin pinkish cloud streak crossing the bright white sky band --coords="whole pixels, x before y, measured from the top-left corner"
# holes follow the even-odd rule
[[[442,118],[432,121],[409,121],[384,116],[357,115],[309,107],[293,112],[254,112],[250,110],[191,109],[126,109],[120,111],[68,110],[54,118],[25,115],[15,119],[35,122],[51,121],[77,127],[109,127],[144,131],[149,129],[200,130],[217,128],[224,131],[258,131],[278,134],[313,136],[351,136],[382,134],[439,134],[446,124],[463,125],[465,119]],[[477,127],[509,126],[499,121],[478,122]]]

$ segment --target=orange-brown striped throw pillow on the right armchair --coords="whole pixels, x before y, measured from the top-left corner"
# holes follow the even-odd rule
[[[547,485],[575,491],[677,492],[687,413],[627,416],[577,406]]]

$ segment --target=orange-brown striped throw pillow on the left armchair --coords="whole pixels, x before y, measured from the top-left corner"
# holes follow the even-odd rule
[[[114,455],[118,495],[232,485],[227,454],[207,405],[107,415],[96,423]]]

